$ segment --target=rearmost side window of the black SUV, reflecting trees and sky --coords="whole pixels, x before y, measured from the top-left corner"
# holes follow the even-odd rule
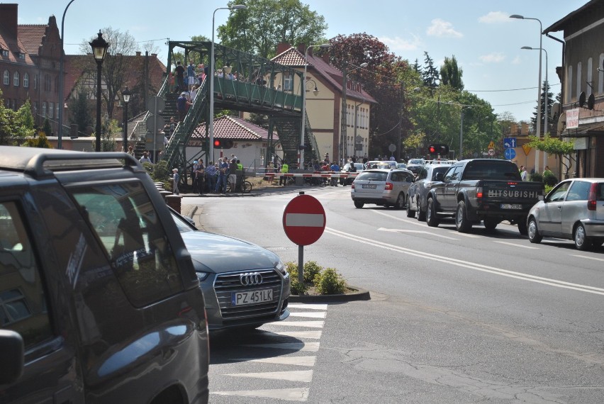
[[[142,184],[101,184],[71,191],[133,305],[148,305],[182,290],[174,252]]]

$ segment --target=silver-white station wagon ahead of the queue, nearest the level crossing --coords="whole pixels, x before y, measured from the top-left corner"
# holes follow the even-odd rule
[[[374,203],[403,209],[412,182],[413,173],[406,169],[367,169],[354,179],[350,197],[357,208]]]

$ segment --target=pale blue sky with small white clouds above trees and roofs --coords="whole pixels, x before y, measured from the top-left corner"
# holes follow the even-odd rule
[[[510,112],[516,120],[528,120],[537,105],[539,22],[509,18],[511,14],[538,18],[542,28],[586,4],[587,0],[301,0],[325,17],[327,37],[367,33],[388,45],[391,52],[413,63],[427,51],[440,67],[454,55],[464,71],[465,89],[490,102],[496,113]],[[46,23],[54,14],[61,19],[69,0],[17,1],[20,24]],[[167,6],[168,4],[168,6]],[[190,40],[193,35],[212,35],[212,14],[227,0],[176,3],[160,0],[74,0],[65,15],[65,52],[76,54],[79,43],[91,39],[100,28],[128,31],[141,43],[153,40],[167,62],[167,38]],[[99,9],[98,6],[102,6]],[[216,11],[215,26],[225,23],[227,10]],[[561,33],[554,36],[562,39]],[[218,41],[218,38],[216,38]],[[547,51],[547,74],[552,92],[560,82],[561,44],[542,37]],[[545,79],[542,52],[542,80]]]

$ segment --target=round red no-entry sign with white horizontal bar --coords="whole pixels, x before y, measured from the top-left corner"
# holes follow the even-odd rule
[[[317,198],[298,195],[283,212],[283,230],[297,245],[310,245],[319,240],[325,230],[325,209]]]

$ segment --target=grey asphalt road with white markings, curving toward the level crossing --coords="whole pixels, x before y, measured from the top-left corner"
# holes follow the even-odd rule
[[[184,198],[183,211],[297,262],[281,220],[299,190]],[[349,187],[302,190],[327,215],[305,261],[371,301],[293,305],[284,322],[213,336],[211,403],[604,401],[604,249],[532,245],[505,224],[463,235],[356,209]]]

